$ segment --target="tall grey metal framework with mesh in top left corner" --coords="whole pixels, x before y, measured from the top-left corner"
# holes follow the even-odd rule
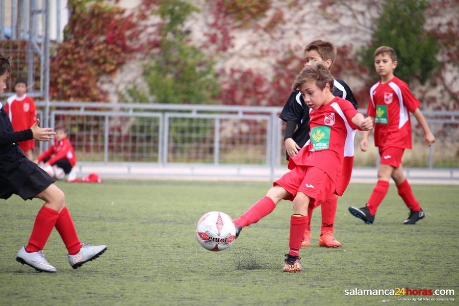
[[[0,0],[0,52],[10,55],[12,62],[8,89],[2,97],[14,93],[16,78],[26,78],[28,94],[46,105],[42,125],[48,126],[49,0]]]

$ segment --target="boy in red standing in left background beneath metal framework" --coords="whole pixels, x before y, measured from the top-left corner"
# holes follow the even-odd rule
[[[7,99],[4,106],[5,112],[10,117],[14,131],[29,129],[37,121],[35,101],[27,95],[27,81],[25,78],[17,78],[14,84],[16,94]],[[19,142],[19,147],[30,161],[33,160],[32,151],[35,148],[35,140]]]

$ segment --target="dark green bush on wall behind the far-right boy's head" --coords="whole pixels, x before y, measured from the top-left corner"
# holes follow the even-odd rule
[[[363,62],[374,69],[373,52],[382,45],[392,47],[398,56],[394,74],[405,82],[418,79],[422,83],[431,77],[439,63],[440,46],[435,36],[424,30],[426,0],[389,0],[379,18],[373,40],[362,50]]]

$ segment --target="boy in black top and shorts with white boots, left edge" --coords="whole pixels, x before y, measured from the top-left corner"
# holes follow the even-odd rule
[[[9,57],[0,53],[0,93],[6,88],[10,77]],[[14,131],[10,118],[0,103],[0,198],[8,199],[17,194],[22,199],[39,198],[44,201],[32,228],[29,243],[16,254],[16,261],[27,264],[37,271],[56,272],[48,263],[43,248],[49,235],[56,227],[68,250],[68,262],[73,269],[94,260],[104,253],[106,245],[90,246],[81,243],[72,217],[65,206],[65,196],[45,171],[22,154],[17,143],[36,139],[49,141],[56,133],[53,129],[38,126],[37,120],[30,128]]]

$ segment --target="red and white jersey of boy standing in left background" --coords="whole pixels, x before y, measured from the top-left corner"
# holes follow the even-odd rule
[[[12,95],[7,99],[5,111],[10,117],[14,131],[29,129],[37,121],[37,113],[34,100],[24,94],[21,98]]]

